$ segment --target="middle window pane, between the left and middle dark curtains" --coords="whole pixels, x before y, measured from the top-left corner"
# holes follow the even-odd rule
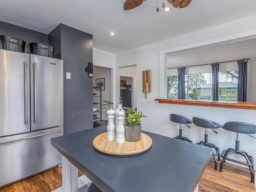
[[[186,75],[185,91],[186,99],[211,100],[211,73]]]

